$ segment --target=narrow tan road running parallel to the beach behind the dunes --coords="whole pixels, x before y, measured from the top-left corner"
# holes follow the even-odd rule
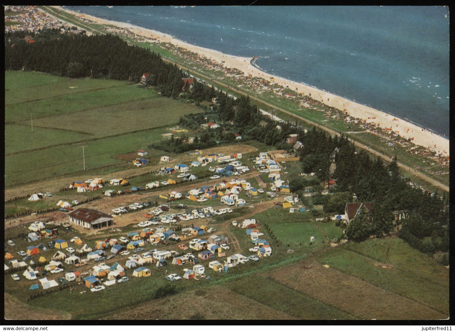
[[[187,66],[183,66],[183,65],[181,65],[181,64],[178,64],[178,63],[169,61],[169,60],[167,60],[167,59],[164,59],[163,57],[162,57],[162,59],[163,59],[163,61],[166,61],[166,62],[169,62],[169,63],[172,63],[172,64],[176,64],[177,66],[179,66],[179,67],[182,68],[183,70],[187,70],[187,71],[192,72],[193,74],[195,74],[195,75],[197,75],[197,76],[203,77],[204,79],[207,80],[207,82],[209,82],[209,81],[214,81],[214,82],[216,82],[218,85],[220,85],[220,86],[222,86],[222,87],[225,87],[225,88],[227,88],[228,90],[231,90],[231,91],[234,91],[234,92],[236,92],[236,93],[242,94],[243,96],[248,96],[248,97],[250,97],[250,99],[253,99],[253,100],[255,100],[255,101],[259,102],[259,103],[262,103],[262,104],[264,104],[264,105],[266,105],[266,106],[268,106],[268,107],[275,108],[275,109],[277,109],[278,111],[283,112],[283,113],[286,113],[286,114],[288,114],[288,115],[290,115],[290,116],[292,116],[292,117],[298,118],[300,121],[306,122],[306,123],[311,124],[311,125],[313,125],[313,126],[315,126],[315,127],[319,127],[320,129],[322,129],[322,130],[328,132],[332,137],[340,136],[340,135],[341,135],[340,132],[337,132],[337,131],[334,131],[334,130],[332,130],[332,129],[329,129],[328,127],[324,127],[323,125],[320,125],[319,123],[310,121],[310,120],[308,120],[307,118],[304,118],[304,117],[302,117],[302,116],[296,115],[296,114],[294,114],[293,112],[289,112],[289,111],[286,110],[286,109],[277,107],[277,106],[275,106],[275,105],[273,105],[273,104],[271,104],[271,103],[269,103],[269,102],[266,102],[266,101],[261,100],[261,99],[259,99],[259,98],[257,98],[257,97],[254,97],[254,96],[252,96],[251,94],[248,94],[248,93],[246,93],[246,92],[243,92],[243,91],[239,90],[238,88],[229,86],[229,85],[227,85],[227,84],[225,84],[225,83],[223,83],[223,82],[221,82],[221,81],[218,81],[218,80],[216,80],[216,79],[214,80],[212,77],[209,77],[209,76],[206,76],[206,75],[204,75],[204,74],[201,74],[200,72],[194,71],[193,69],[191,69],[191,68],[189,68],[189,67],[187,67]],[[349,138],[348,138],[348,139],[349,139]],[[371,149],[369,146],[364,145],[364,144],[362,144],[362,143],[359,143],[359,142],[355,141],[354,139],[349,139],[349,140],[350,140],[352,143],[354,143],[354,146],[355,146],[355,147],[362,148],[362,149],[364,149],[365,151],[367,151],[367,152],[369,152],[369,153],[371,153],[371,154],[373,154],[373,155],[375,155],[375,156],[379,156],[380,158],[382,158],[383,160],[385,160],[385,161],[387,161],[387,162],[391,162],[391,161],[392,161],[392,158],[390,158],[388,155],[385,155],[384,153],[381,153],[381,152],[379,152],[379,151],[376,151],[376,150],[374,150],[374,149]],[[437,181],[437,180],[434,179],[434,178],[431,178],[430,176],[426,175],[425,173],[421,173],[421,172],[419,172],[419,171],[414,171],[414,172],[413,172],[412,169],[410,168],[410,166],[405,165],[405,164],[403,164],[403,163],[401,163],[401,162],[398,162],[398,166],[399,166],[399,168],[402,168],[402,169],[404,169],[404,170],[406,170],[406,171],[409,171],[410,173],[414,174],[415,177],[418,177],[418,178],[420,178],[420,179],[423,179],[423,180],[425,180],[426,182],[430,183],[431,185],[433,185],[433,186],[435,186],[435,187],[437,187],[437,188],[440,188],[440,189],[442,189],[442,190],[444,190],[444,191],[446,191],[446,192],[449,192],[449,187],[448,187],[447,185],[444,185],[443,183],[440,183],[439,181]]]

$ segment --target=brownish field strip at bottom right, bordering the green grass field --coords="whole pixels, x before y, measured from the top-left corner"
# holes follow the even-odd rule
[[[428,306],[384,290],[334,268],[308,261],[268,272],[268,276],[329,305],[363,319],[432,320],[444,319]]]

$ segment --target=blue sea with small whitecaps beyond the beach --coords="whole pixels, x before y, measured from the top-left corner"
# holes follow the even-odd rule
[[[441,6],[66,6],[238,56],[449,135]]]

